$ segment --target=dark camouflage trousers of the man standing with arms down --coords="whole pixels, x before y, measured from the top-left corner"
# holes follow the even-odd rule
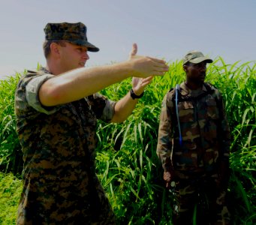
[[[173,190],[175,225],[230,224],[226,192],[218,187],[217,174],[178,177]]]

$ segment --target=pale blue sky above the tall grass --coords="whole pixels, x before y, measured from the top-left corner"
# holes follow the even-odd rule
[[[47,23],[83,22],[101,50],[86,67],[121,62],[132,43],[139,55],[182,58],[198,49],[232,64],[256,60],[254,0],[8,0],[0,8],[0,79],[45,65]]]

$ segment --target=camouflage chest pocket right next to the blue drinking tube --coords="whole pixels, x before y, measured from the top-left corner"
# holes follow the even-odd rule
[[[182,101],[178,104],[179,121],[194,121],[194,106],[191,101]]]

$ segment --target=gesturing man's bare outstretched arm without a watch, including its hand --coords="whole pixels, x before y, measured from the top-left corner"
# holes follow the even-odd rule
[[[137,48],[134,44],[133,48]],[[77,101],[128,77],[162,76],[168,71],[163,60],[131,55],[128,61],[96,68],[78,68],[47,80],[39,90],[46,107]]]

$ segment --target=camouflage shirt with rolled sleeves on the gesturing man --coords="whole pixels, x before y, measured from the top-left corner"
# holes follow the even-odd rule
[[[97,118],[110,121],[115,102],[99,94],[56,107],[38,100],[42,69],[22,77],[15,96],[23,148],[23,192],[17,224],[115,224],[95,174]]]

